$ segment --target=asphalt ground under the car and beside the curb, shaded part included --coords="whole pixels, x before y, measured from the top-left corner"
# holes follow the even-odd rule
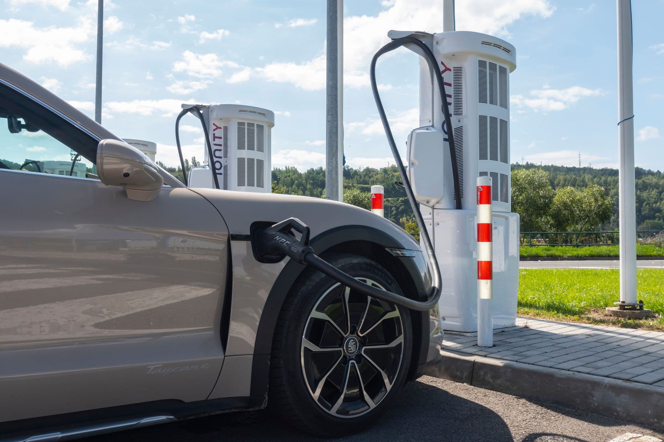
[[[392,410],[376,425],[363,433],[336,440],[607,442],[625,433],[653,437],[638,440],[664,439],[664,435],[655,431],[608,417],[536,404],[523,398],[425,376],[408,384]],[[216,442],[323,439],[291,429],[263,411],[203,417],[85,440]]]

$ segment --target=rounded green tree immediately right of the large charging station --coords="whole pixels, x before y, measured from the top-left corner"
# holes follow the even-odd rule
[[[521,215],[521,231],[546,229],[553,199],[548,172],[542,169],[519,169],[512,172],[512,211]]]

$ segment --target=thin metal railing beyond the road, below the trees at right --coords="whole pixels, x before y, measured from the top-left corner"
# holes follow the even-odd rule
[[[614,246],[618,245],[620,231],[594,231],[594,232],[521,232],[521,245],[529,247],[537,246],[572,246],[572,247],[585,247],[585,246]],[[548,235],[548,239],[544,239],[544,235]],[[552,235],[554,243],[550,243]],[[644,239],[644,237],[652,238],[657,235],[664,235],[662,230],[637,230],[637,238]],[[598,238],[602,238],[602,242],[598,242]],[[525,244],[525,241],[528,244]],[[535,243],[533,243],[535,239]],[[595,239],[596,241],[589,241]],[[541,241],[541,242],[540,242]]]

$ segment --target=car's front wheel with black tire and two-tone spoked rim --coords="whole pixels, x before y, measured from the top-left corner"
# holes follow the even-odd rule
[[[402,294],[385,268],[369,258],[333,254],[326,256],[326,260],[351,276]],[[346,302],[343,296],[346,296]],[[268,392],[268,408],[291,425],[325,436],[361,431],[378,420],[403,386],[412,353],[409,311],[375,298],[361,304],[362,298],[367,300],[366,296],[347,291],[314,269],[305,270],[291,288],[274,331]],[[339,302],[343,303],[341,307]],[[319,311],[325,305],[325,312],[330,316],[327,319],[317,317],[320,313],[314,313],[314,308]],[[343,313],[351,313],[343,317],[345,324],[338,319],[341,308]],[[310,319],[312,314],[316,317]],[[335,320],[331,319],[332,316]],[[401,337],[398,336],[399,329]],[[347,335],[337,339],[343,332]],[[355,353],[349,353],[349,349],[354,349],[353,337]],[[316,341],[313,347],[309,339]],[[401,343],[398,343],[399,339],[402,339]],[[333,349],[335,345],[341,348]],[[396,366],[398,353],[401,357]],[[320,379],[324,380],[319,386],[317,380]],[[355,392],[352,382],[362,382],[363,387]],[[353,394],[345,392],[348,385],[351,385]],[[316,398],[314,387],[318,394]],[[337,397],[341,399],[335,400]]]

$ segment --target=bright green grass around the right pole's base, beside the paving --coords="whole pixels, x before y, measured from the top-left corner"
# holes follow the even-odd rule
[[[616,269],[531,268],[519,272],[521,316],[664,330],[664,269],[637,270],[637,297],[657,315],[638,321],[604,314],[620,300]]]

